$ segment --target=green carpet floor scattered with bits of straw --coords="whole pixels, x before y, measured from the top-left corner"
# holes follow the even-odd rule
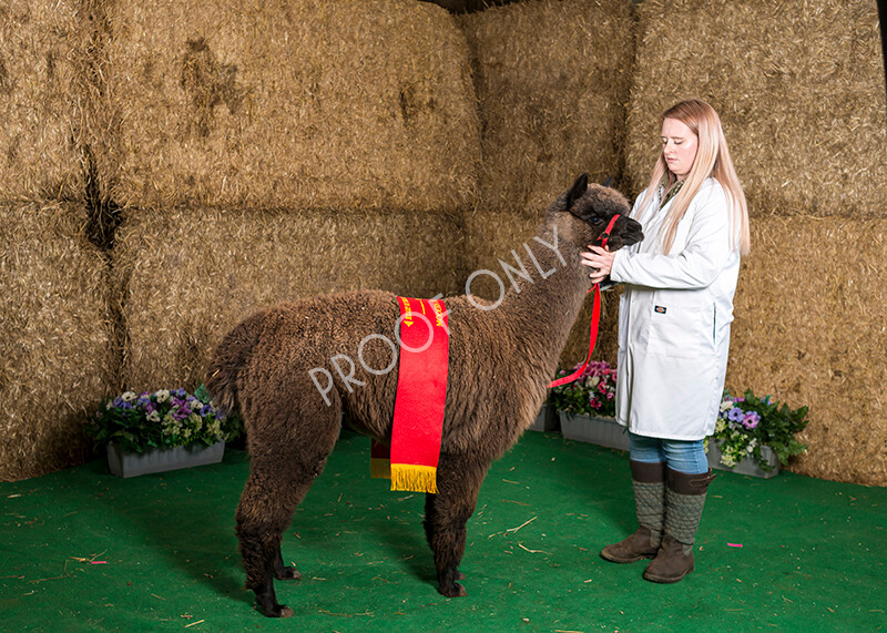
[[[696,571],[644,581],[598,552],[635,528],[623,452],[528,432],[493,464],[468,523],[468,596],[436,591],[420,494],[368,476],[344,432],[284,535],[296,614],[252,608],[234,537],[248,472],[221,464],[133,479],[102,461],[0,483],[4,631],[879,631],[887,489],[792,473],[721,474]],[[740,547],[741,545],[741,547]]]

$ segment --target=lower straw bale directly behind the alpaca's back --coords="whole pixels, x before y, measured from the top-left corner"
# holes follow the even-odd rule
[[[329,292],[431,297],[465,279],[460,227],[442,213],[140,211],[114,249],[131,389],[193,387],[253,312]]]

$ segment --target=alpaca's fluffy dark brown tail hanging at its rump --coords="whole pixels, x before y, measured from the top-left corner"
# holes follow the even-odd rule
[[[218,344],[213,355],[206,390],[215,407],[224,414],[239,410],[237,382],[241,369],[258,343],[261,328],[257,320],[256,315],[236,326]]]

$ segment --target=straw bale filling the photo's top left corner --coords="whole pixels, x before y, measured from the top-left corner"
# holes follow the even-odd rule
[[[82,198],[86,24],[71,0],[0,9],[0,200]]]

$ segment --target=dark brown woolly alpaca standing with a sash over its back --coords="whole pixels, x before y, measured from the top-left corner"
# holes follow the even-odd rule
[[[446,299],[446,420],[438,492],[426,497],[424,522],[443,595],[466,593],[457,583],[463,578],[458,566],[480,484],[491,462],[532,423],[590,288],[580,252],[615,214],[622,217],[612,229],[611,249],[642,239],[629,211],[620,193],[589,186],[583,174],[547,211],[528,245],[532,256],[528,249],[526,264],[516,263],[523,270],[509,274],[512,287],[499,305],[487,302],[481,309],[470,296]],[[397,340],[399,316],[390,293],[319,296],[254,315],[216,350],[207,387],[222,408],[239,409],[246,427],[252,462],[237,537],[247,588],[265,615],[293,614],[274,592],[275,578],[300,576],[283,563],[281,534],[324,469],[340,414],[356,430],[391,441],[397,371],[380,370],[391,365],[392,349],[379,340],[360,344],[368,335]],[[318,375],[332,377],[328,390],[312,377]]]

